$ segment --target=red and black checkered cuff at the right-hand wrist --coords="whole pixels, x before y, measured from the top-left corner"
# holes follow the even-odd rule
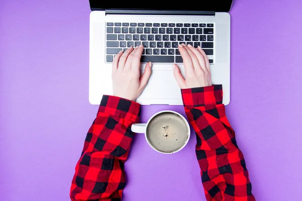
[[[222,85],[181,89],[184,107],[222,104]]]

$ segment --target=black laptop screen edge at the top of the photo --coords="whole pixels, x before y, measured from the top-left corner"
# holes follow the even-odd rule
[[[180,10],[180,11],[215,11],[229,12],[233,0],[208,0],[180,4],[175,1],[173,4],[165,2],[159,4],[156,2],[141,2],[141,1],[101,1],[90,0],[91,10],[106,10],[106,9],[125,9],[125,10]]]

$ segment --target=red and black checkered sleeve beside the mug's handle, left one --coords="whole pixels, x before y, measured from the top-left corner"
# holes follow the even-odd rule
[[[140,105],[104,95],[85,139],[70,187],[71,200],[121,200],[125,187],[124,162],[138,123]]]

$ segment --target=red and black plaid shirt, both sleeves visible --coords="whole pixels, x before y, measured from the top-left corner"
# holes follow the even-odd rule
[[[225,117],[222,86],[182,89],[187,117],[197,138],[196,156],[207,200],[255,200],[235,133]],[[104,95],[75,166],[71,200],[121,200],[124,162],[138,123],[140,105]]]

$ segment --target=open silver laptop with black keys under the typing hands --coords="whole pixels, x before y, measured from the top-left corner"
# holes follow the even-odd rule
[[[112,94],[114,56],[142,44],[141,73],[152,61],[152,75],[137,98],[141,105],[182,105],[172,63],[184,74],[181,43],[199,45],[207,54],[213,84],[222,84],[223,104],[230,103],[230,24],[233,0],[204,2],[120,2],[90,0],[89,101],[99,105]]]

